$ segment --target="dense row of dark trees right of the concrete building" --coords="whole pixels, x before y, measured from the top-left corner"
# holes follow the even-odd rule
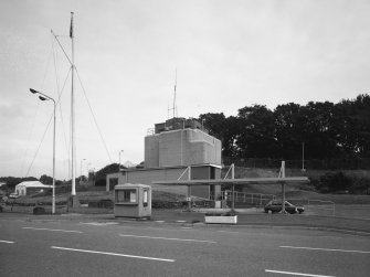
[[[265,105],[240,108],[236,116],[202,114],[210,135],[222,141],[222,157],[370,158],[370,96],[355,99],[288,103],[269,109]]]

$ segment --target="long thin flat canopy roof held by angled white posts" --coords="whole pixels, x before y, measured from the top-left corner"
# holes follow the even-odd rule
[[[307,177],[285,177],[285,178],[244,178],[244,179],[205,179],[205,180],[181,180],[181,181],[155,181],[152,184],[166,185],[210,185],[210,184],[276,184],[276,183],[308,183]]]

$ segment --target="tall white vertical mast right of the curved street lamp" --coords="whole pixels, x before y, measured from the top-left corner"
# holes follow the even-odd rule
[[[72,40],[72,93],[71,93],[71,121],[72,121],[72,195],[76,195],[76,170],[75,170],[75,161],[76,161],[76,146],[75,146],[75,114],[74,114],[74,32],[73,32],[73,12],[71,12],[71,29],[70,29],[70,38]]]

